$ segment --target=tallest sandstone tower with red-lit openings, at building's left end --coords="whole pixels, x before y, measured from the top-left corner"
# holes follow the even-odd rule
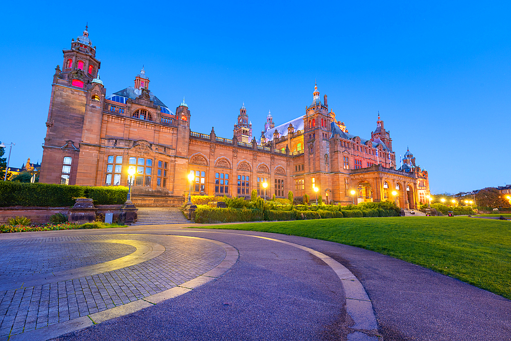
[[[76,182],[80,144],[84,143],[85,149],[99,144],[106,90],[98,78],[101,62],[96,59],[96,47],[92,47],[87,26],[76,41],[71,39],[71,48],[62,53],[62,70],[57,65],[53,76],[39,181],[92,185],[88,180]],[[86,173],[95,176],[94,171]]]

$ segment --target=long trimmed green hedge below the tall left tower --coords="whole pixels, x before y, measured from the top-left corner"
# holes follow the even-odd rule
[[[94,199],[94,203],[99,205],[112,205],[123,204],[127,196],[127,187],[87,187],[0,181],[0,207],[66,207],[73,206],[75,204],[73,198],[77,197]]]

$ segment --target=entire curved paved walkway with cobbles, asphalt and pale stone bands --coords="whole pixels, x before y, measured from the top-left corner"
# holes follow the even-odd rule
[[[153,225],[0,252],[0,340],[511,340],[511,301],[314,239]]]

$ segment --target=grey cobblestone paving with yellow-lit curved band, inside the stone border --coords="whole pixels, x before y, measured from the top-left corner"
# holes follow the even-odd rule
[[[111,240],[111,242],[109,242]],[[152,259],[90,276],[51,281],[53,271],[94,267],[132,254],[123,240],[165,247]],[[165,235],[91,235],[0,240],[0,337],[76,319],[187,282],[218,265],[221,246]],[[55,275],[56,276],[56,275]],[[37,285],[25,287],[24,282]]]

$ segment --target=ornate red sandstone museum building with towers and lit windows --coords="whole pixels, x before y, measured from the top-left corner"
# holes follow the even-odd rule
[[[252,136],[240,108],[233,138],[190,130],[184,99],[175,112],[149,90],[144,69],[128,86],[107,96],[101,62],[87,28],[63,50],[53,76],[39,182],[127,186],[135,169],[132,200],[139,206],[179,206],[188,195],[295,198],[316,193],[341,204],[395,200],[417,208],[429,194],[428,172],[407,151],[396,169],[392,139],[378,114],[370,139],[349,133],[321,101],[317,85],[304,115],[275,126],[268,113],[261,137]],[[262,184],[267,183],[266,190]],[[318,188],[318,192],[314,190]],[[352,191],[355,194],[351,194]]]

